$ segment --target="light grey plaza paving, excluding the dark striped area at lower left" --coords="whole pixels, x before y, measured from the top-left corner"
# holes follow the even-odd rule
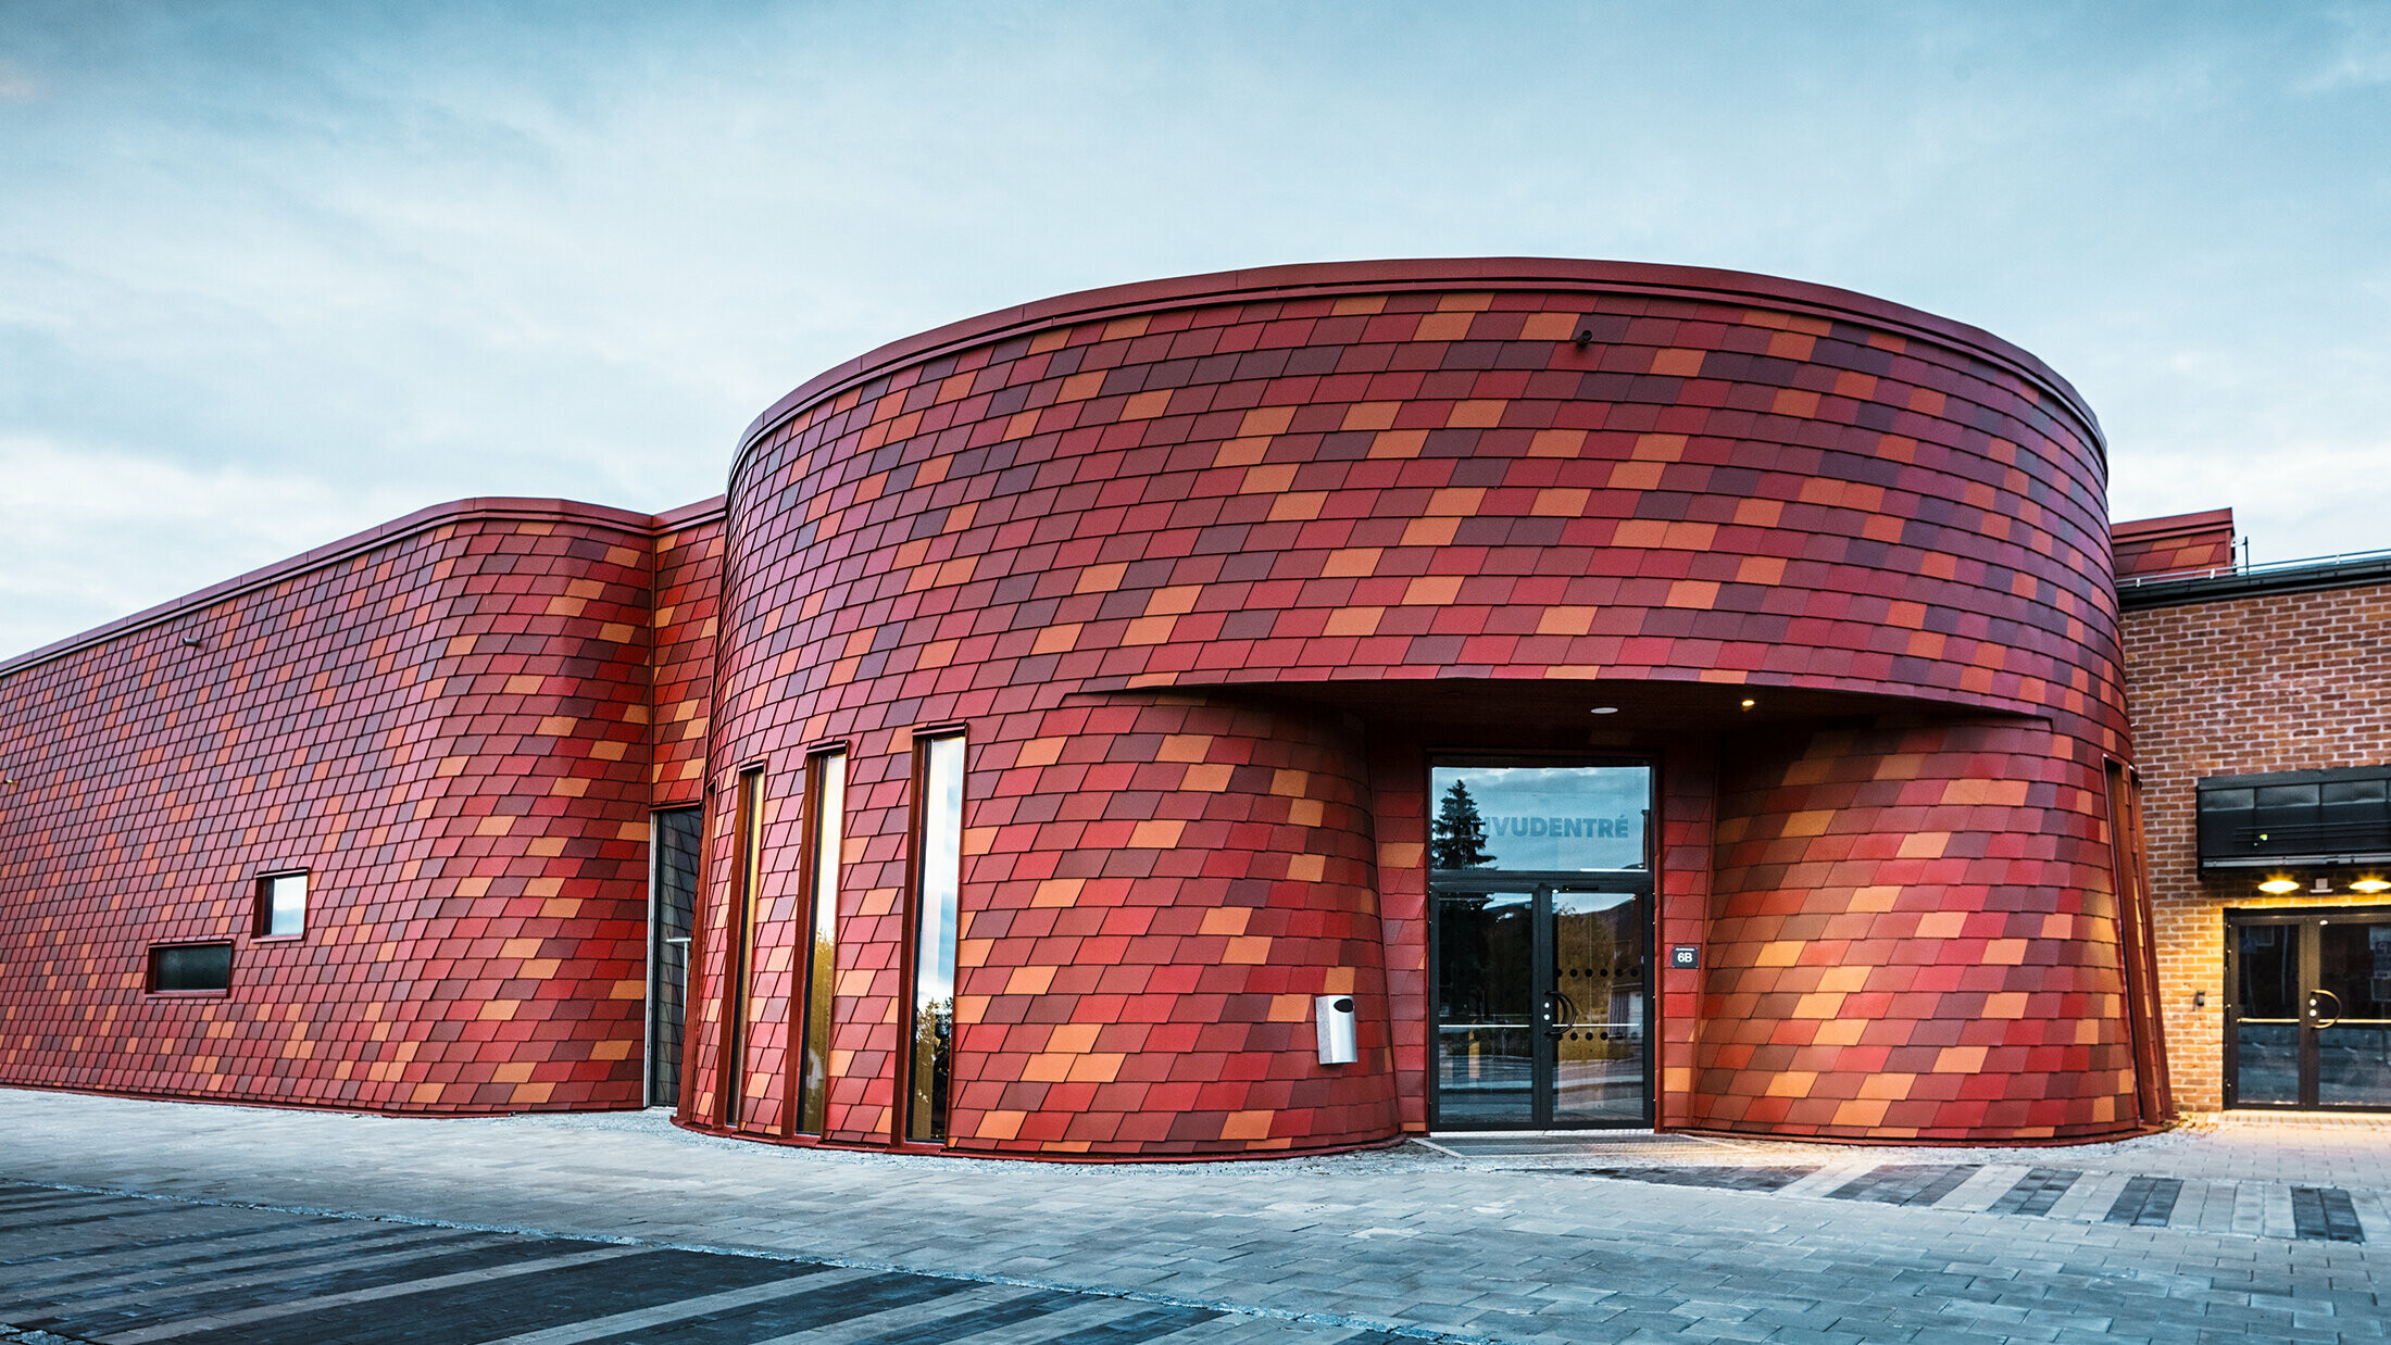
[[[273,1206],[294,1211],[294,1221],[347,1211],[811,1259],[856,1283],[947,1276],[959,1285],[909,1302],[899,1300],[911,1290],[889,1290],[887,1302],[861,1304],[837,1323],[777,1333],[815,1345],[930,1340],[901,1333],[971,1321],[983,1295],[990,1304],[1057,1295],[1081,1321],[1071,1331],[1093,1333],[1081,1345],[1334,1345],[1437,1333],[1506,1343],[2384,1340],[2381,1321],[2391,1316],[2379,1300],[2381,1240],[2367,1228],[2391,1185],[2381,1128],[2248,1135],[2216,1125],[2028,1154],[1655,1140],[1612,1144],[1597,1161],[1566,1147],[1478,1159],[1411,1147],[1119,1168],[768,1149],[679,1132],[655,1116],[395,1120],[244,1108],[232,1123],[206,1106],[0,1092],[0,1132],[22,1137],[0,1147],[0,1183],[17,1183],[0,1197],[22,1194],[26,1183],[81,1185]],[[1583,1175],[1590,1166],[1652,1173]],[[1671,1166],[1750,1171],[1676,1183],[1659,1173]],[[1812,1175],[1767,1190],[1765,1168],[1810,1166]],[[1913,1197],[1937,1180],[1949,1185],[1934,1204],[1824,1199],[1886,1166],[1939,1168],[1913,1173]],[[2047,1214],[1994,1214],[2016,1187],[2016,1178],[2001,1178],[2037,1166],[2083,1178]],[[2104,1223],[2130,1178],[2178,1183],[2169,1223]],[[2298,1240],[2293,1185],[2348,1192],[2369,1240]],[[2283,1230],[2267,1237],[2274,1194]],[[2083,1209],[2068,1214],[2066,1199]],[[2245,1214],[2255,1228],[2243,1228]],[[72,1233],[60,1228],[57,1237]],[[0,1233],[0,1261],[14,1259],[17,1237]],[[22,1271],[0,1266],[0,1288]],[[703,1292],[708,1285],[684,1285],[674,1300],[624,1312]],[[765,1295],[789,1304],[803,1297]],[[748,1304],[758,1307],[765,1302]],[[672,1321],[713,1331],[691,1333],[691,1345],[772,1338],[760,1319],[739,1312],[722,1304]],[[980,1335],[987,1345],[1050,1345],[1069,1335],[1054,1316],[990,1323],[995,1335]],[[555,1326],[457,1340],[478,1345]],[[736,1335],[748,1326],[756,1331]],[[614,1335],[624,1331],[650,1328]],[[172,1345],[186,1343],[201,1338]]]

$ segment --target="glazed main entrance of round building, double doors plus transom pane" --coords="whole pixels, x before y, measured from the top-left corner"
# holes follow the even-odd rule
[[[1435,764],[1442,1130],[1650,1125],[1652,769]]]

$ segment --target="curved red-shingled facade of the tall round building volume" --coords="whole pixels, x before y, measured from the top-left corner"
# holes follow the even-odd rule
[[[782,399],[732,471],[684,1113],[1109,1156],[1449,1125],[1509,1087],[1456,999],[1456,939],[1506,898],[1435,867],[1439,807],[1549,767],[1650,779],[1619,807],[1640,850],[1604,860],[1633,910],[1604,948],[1640,948],[1600,968],[1602,1049],[1643,1061],[1614,1120],[2142,1128],[2166,1099],[2145,908],[2111,882],[2109,566],[2066,382],[1822,287],[1356,263],[899,342]],[[952,736],[932,1011],[921,743]],[[1537,882],[1545,948],[1590,879]],[[1564,975],[1595,970],[1537,972],[1540,1003]],[[1317,996],[1353,1003],[1353,1063],[1317,1061]],[[1535,1087],[1554,1051],[1521,1046]]]

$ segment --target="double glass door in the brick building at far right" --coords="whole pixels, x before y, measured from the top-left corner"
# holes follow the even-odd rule
[[[2391,910],[2228,915],[2226,1106],[2391,1108]]]

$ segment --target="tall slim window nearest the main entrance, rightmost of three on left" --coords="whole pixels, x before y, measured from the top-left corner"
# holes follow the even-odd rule
[[[947,1137],[954,1056],[954,913],[964,891],[964,736],[913,745],[913,1097],[909,1140]]]

